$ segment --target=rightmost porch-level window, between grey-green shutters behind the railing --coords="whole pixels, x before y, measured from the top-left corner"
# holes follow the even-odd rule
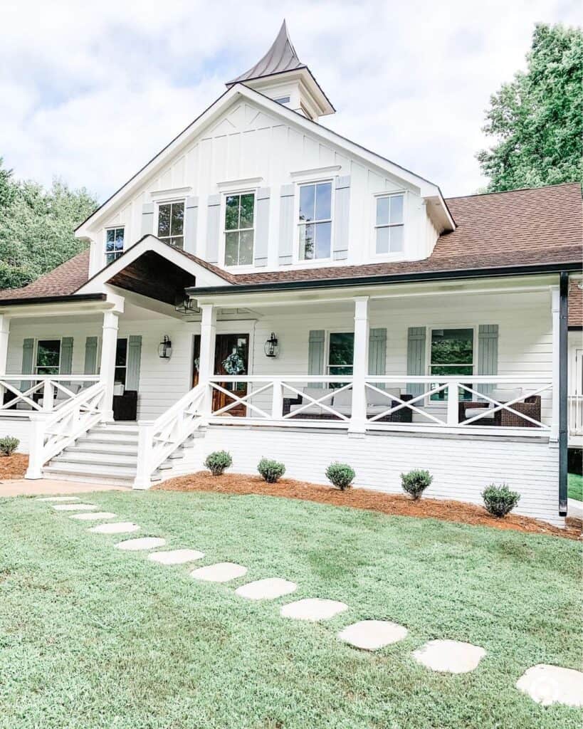
[[[429,373],[446,377],[461,378],[474,374],[474,330],[473,329],[432,329],[431,361]],[[461,399],[472,399],[472,393],[460,390]],[[431,400],[447,399],[447,390],[431,395]]]

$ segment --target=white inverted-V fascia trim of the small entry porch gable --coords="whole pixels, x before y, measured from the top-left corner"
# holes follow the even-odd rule
[[[110,278],[126,268],[147,251],[154,251],[155,253],[160,254],[179,268],[186,270],[188,273],[192,273],[192,276],[196,276],[197,279],[202,278],[203,281],[211,281],[211,286],[214,284],[217,286],[232,286],[232,284],[226,284],[224,278],[220,278],[216,275],[216,273],[213,273],[213,271],[203,268],[203,266],[182,254],[178,249],[173,248],[167,243],[159,241],[154,235],[146,235],[141,239],[141,241],[130,246],[127,251],[117,258],[117,260],[114,260],[113,263],[110,263],[109,266],[106,266],[106,268],[102,268],[101,271],[95,273],[95,276],[90,278],[87,283],[77,289],[76,293],[85,294],[103,291],[103,286],[107,284]]]

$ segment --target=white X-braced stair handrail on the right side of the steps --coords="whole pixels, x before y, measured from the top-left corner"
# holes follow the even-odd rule
[[[152,423],[138,423],[138,462],[133,488],[149,488],[152,474],[204,422],[198,410],[208,385],[199,383]]]

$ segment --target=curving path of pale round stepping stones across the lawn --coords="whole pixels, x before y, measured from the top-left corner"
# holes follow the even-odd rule
[[[71,502],[79,501],[77,496],[47,496],[36,499],[39,502]],[[113,512],[93,511],[98,507],[95,504],[83,503],[50,503],[57,511],[77,511],[80,513],[69,515],[71,519],[79,521],[101,521],[114,518]],[[103,523],[90,527],[87,531],[95,534],[123,534],[138,531],[138,524],[131,521]],[[154,550],[163,547],[166,540],[162,537],[139,537],[125,539],[118,542],[115,547],[126,551]],[[203,552],[194,549],[174,549],[152,552],[148,559],[159,564],[175,565],[187,564],[204,557]],[[190,576],[200,582],[230,582],[243,577],[247,568],[234,562],[218,562],[199,567],[190,573]],[[235,594],[248,600],[275,600],[289,595],[297,590],[295,582],[283,580],[281,577],[266,577],[240,585]],[[280,615],[292,620],[307,620],[317,623],[321,620],[330,620],[348,610],[348,605],[337,601],[322,598],[303,598],[284,604]],[[343,628],[337,637],[360,650],[380,650],[388,645],[402,641],[407,637],[407,628],[389,620],[360,620]],[[431,640],[412,653],[413,658],[422,666],[450,674],[463,674],[474,671],[486,652],[483,648],[471,643],[454,640]],[[548,666],[540,663],[528,668],[516,683],[518,690],[529,695],[533,701],[548,706],[551,703],[563,703],[566,706],[583,706],[583,672],[572,668]]]

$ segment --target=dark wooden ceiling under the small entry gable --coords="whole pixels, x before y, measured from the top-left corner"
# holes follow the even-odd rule
[[[187,286],[195,286],[196,277],[160,254],[146,251],[107,283],[173,306]]]

